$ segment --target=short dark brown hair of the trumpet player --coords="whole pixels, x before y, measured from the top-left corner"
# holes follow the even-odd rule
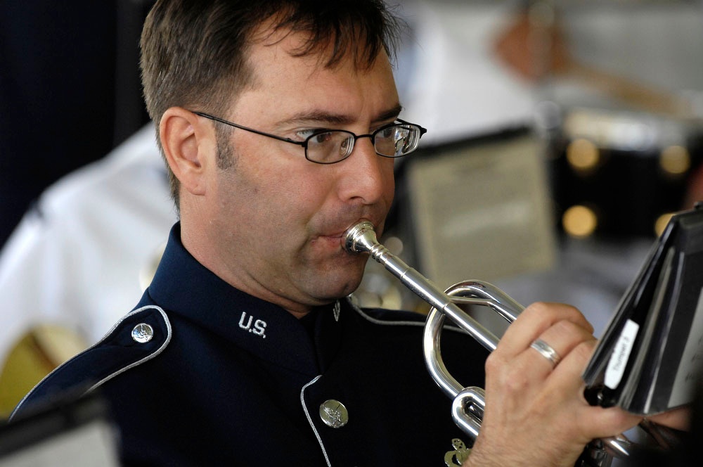
[[[157,128],[173,106],[223,114],[253,84],[247,49],[267,22],[307,33],[296,55],[328,52],[330,68],[349,56],[369,68],[382,49],[393,58],[401,33],[382,0],[158,0],[141,35],[144,98]],[[179,182],[170,169],[169,177],[178,208]]]

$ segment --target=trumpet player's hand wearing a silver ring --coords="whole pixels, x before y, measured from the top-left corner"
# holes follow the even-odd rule
[[[557,352],[556,365],[531,347],[536,339]],[[591,440],[636,426],[640,417],[583,398],[581,373],[595,342],[576,308],[527,307],[486,360],[484,419],[464,465],[570,467]]]

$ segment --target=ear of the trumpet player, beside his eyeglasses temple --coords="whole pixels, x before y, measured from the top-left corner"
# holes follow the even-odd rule
[[[165,111],[159,135],[166,161],[193,195],[205,194],[207,169],[215,162],[217,139],[214,128],[189,110],[172,107]]]

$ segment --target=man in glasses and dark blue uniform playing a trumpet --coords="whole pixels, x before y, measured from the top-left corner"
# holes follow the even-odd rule
[[[141,302],[14,418],[90,390],[124,465],[441,465],[463,434],[422,321],[359,309],[367,257],[343,248],[360,220],[382,231],[394,158],[425,132],[399,119],[398,23],[378,0],[157,1],[141,66],[180,221]],[[486,387],[465,466],[572,466],[638,423],[583,399],[592,331],[546,303],[487,359],[447,331]]]

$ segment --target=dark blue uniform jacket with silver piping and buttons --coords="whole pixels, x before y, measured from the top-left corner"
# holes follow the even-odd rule
[[[13,419],[98,390],[124,465],[444,466],[453,438],[469,440],[425,369],[423,321],[351,299],[295,319],[202,267],[176,224],[134,311],[47,376]],[[483,385],[482,347],[456,330],[442,347],[460,383]],[[323,423],[328,399],[347,408],[344,426]]]

